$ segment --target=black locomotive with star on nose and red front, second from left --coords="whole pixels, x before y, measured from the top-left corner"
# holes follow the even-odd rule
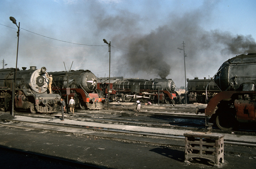
[[[71,70],[70,72],[50,72],[52,90],[62,97],[71,97],[81,109],[102,109],[105,98],[96,90],[97,78],[90,70]],[[64,99],[66,100],[66,99]],[[69,101],[68,101],[69,102]]]

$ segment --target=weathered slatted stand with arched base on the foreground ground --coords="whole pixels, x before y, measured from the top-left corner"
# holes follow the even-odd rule
[[[224,163],[224,134],[191,131],[185,136],[185,162],[191,158],[203,158],[218,166]]]

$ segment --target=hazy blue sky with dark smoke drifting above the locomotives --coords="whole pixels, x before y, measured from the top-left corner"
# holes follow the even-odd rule
[[[214,76],[221,64],[256,52],[255,0],[0,0],[0,59],[14,68],[91,70],[125,78]],[[65,41],[65,42],[63,42]],[[2,63],[2,62],[1,62]],[[2,68],[2,66],[1,66]]]

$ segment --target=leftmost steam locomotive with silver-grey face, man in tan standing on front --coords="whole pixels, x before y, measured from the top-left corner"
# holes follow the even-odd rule
[[[51,113],[58,111],[60,95],[48,94],[48,78],[46,68],[29,70],[22,68],[16,71],[16,87],[14,89],[14,105],[16,108],[30,110],[31,113]],[[12,85],[15,68],[0,69],[0,108],[2,111],[12,107]]]

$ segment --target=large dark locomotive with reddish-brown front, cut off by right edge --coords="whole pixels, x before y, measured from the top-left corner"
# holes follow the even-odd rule
[[[238,123],[256,122],[255,71],[256,53],[242,54],[222,64],[214,77],[222,91],[204,109],[206,126],[216,122],[220,129],[231,130]]]

